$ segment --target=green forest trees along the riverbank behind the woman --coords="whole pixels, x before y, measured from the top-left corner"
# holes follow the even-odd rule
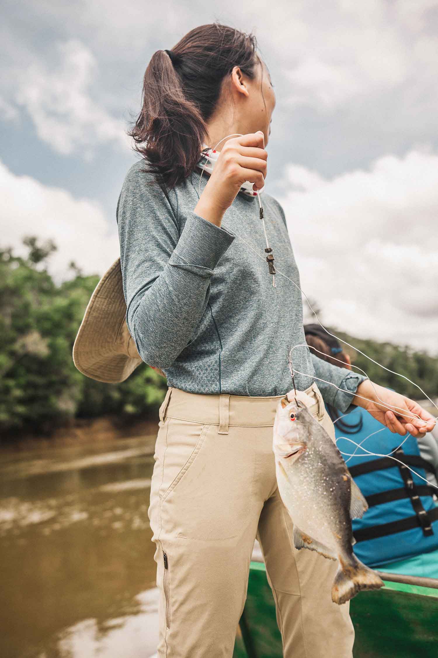
[[[72,359],[72,349],[87,303],[99,275],[83,276],[72,261],[72,278],[55,284],[47,263],[56,245],[23,240],[25,257],[0,248],[0,433],[33,430],[46,434],[74,418],[107,414],[123,418],[156,417],[167,385],[146,364],[121,384],[85,377]],[[328,327],[340,338],[416,382],[430,397],[438,395],[438,358],[408,345],[363,340]],[[345,347],[353,364],[371,380],[414,399],[424,395],[405,379],[378,367]]]

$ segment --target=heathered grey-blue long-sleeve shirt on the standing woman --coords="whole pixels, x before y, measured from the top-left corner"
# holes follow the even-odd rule
[[[286,394],[289,350],[305,345],[303,306],[280,274],[273,287],[257,198],[239,192],[219,227],[193,211],[198,168],[165,193],[145,185],[154,176],[143,167],[139,160],[129,168],[116,211],[126,322],[142,360],[161,368],[168,386],[190,393]],[[301,287],[284,211],[266,191],[260,198],[274,266]],[[294,349],[292,365],[305,373],[295,375],[297,390],[314,376],[341,388],[317,380],[324,401],[343,412],[366,379],[306,346]]]

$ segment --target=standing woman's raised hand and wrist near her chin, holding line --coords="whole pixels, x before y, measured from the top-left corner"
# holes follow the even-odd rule
[[[194,212],[220,226],[244,182],[253,183],[254,191],[263,188],[268,157],[264,145],[261,130],[227,139]]]

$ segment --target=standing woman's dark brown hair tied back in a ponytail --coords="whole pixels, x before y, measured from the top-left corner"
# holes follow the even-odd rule
[[[149,165],[142,171],[171,189],[200,159],[224,78],[239,66],[255,78],[255,36],[220,23],[201,25],[171,49],[158,50],[146,68],[142,109],[127,134]],[[219,149],[221,145],[219,145]]]

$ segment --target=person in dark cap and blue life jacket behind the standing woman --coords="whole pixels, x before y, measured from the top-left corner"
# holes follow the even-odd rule
[[[312,353],[329,363],[340,359],[351,368],[349,355],[319,324],[305,324],[304,331]],[[399,436],[360,408],[347,418],[331,405],[326,408],[334,420],[336,445],[369,505],[362,519],[353,519],[357,557],[382,571],[438,578],[437,426],[401,445]],[[366,451],[392,453],[399,461]]]

